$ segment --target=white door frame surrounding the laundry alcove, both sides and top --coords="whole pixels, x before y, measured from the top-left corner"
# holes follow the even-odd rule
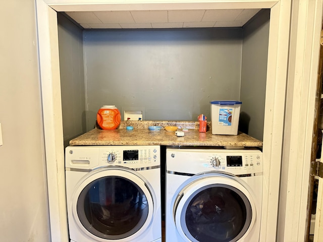
[[[143,0],[141,4],[133,3],[131,0],[97,0],[99,4],[92,4],[90,0],[35,1],[52,241],[68,241],[57,15],[53,9],[104,11],[152,8],[156,10],[271,8],[263,134],[265,192],[260,241],[273,241],[273,235],[277,232],[291,0],[280,2],[278,0],[205,0],[203,3],[198,0],[195,2],[165,0],[159,1],[157,5],[153,4],[152,0]]]

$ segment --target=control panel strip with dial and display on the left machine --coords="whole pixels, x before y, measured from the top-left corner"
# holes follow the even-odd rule
[[[93,169],[118,165],[142,168],[160,165],[159,146],[68,146],[65,167]]]

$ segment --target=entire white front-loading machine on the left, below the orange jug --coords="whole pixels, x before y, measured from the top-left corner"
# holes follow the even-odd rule
[[[65,167],[71,241],[161,241],[159,146],[69,146]]]

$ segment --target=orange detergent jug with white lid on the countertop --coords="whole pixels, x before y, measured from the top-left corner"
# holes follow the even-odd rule
[[[115,130],[121,122],[121,114],[115,105],[103,105],[96,114],[97,125],[102,130]]]

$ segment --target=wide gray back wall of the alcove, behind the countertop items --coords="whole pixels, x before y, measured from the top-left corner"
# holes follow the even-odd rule
[[[210,120],[211,100],[239,99],[242,28],[84,30],[88,127],[101,105],[146,120]]]

